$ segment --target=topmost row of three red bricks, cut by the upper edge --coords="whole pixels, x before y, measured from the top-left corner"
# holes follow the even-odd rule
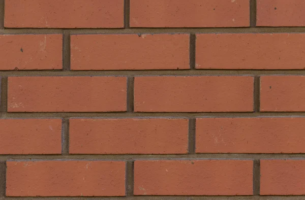
[[[26,9],[24,9],[26,8]],[[302,0],[257,0],[257,26],[304,26]],[[122,28],[124,0],[6,0],[8,28]],[[249,27],[249,0],[131,0],[131,27]]]

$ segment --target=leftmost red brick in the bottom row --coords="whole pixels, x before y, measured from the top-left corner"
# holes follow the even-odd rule
[[[7,196],[125,196],[123,161],[8,161]]]

